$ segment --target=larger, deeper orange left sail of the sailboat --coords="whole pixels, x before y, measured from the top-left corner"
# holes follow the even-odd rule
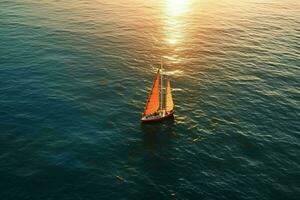
[[[151,115],[159,109],[159,71],[156,74],[153,87],[151,89],[144,115]]]

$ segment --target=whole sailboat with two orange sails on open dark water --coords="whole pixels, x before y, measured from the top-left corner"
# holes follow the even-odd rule
[[[174,103],[170,80],[167,80],[165,98],[163,94],[163,66],[158,69],[148,101],[142,114],[142,122],[158,122],[173,117]]]

